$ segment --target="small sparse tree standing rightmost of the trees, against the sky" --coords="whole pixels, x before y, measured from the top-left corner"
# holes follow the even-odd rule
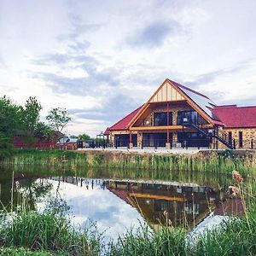
[[[68,116],[66,108],[52,108],[49,111],[46,119],[49,121],[49,125],[55,131],[63,131],[71,118]]]

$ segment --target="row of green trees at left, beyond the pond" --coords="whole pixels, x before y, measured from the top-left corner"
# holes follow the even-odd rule
[[[14,137],[21,137],[27,148],[38,139],[58,137],[71,120],[65,108],[52,108],[46,122],[40,120],[42,106],[30,96],[24,106],[0,97],[0,158],[11,154]]]

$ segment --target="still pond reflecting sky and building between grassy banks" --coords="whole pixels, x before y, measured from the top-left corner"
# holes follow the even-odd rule
[[[19,207],[26,195],[31,209],[61,208],[78,228],[93,224],[116,240],[145,224],[152,229],[160,224],[193,228],[211,212],[224,214],[222,202],[232,183],[231,176],[209,172],[4,168],[0,209]]]

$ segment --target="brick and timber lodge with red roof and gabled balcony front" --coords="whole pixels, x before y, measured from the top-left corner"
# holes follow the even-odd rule
[[[143,106],[105,131],[115,148],[256,148],[256,106],[218,106],[166,79]]]

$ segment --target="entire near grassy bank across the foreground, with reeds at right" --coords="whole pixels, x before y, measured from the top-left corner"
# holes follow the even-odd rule
[[[218,230],[199,236],[194,245],[187,241],[189,230],[186,228],[151,230],[143,227],[136,235],[128,232],[124,237],[119,237],[117,242],[106,246],[102,242],[104,234],[100,236],[90,229],[74,230],[60,212],[22,210],[13,214],[12,222],[3,212],[0,255],[255,255],[255,183],[244,187],[242,191],[244,203],[247,202],[245,216],[231,218]]]

